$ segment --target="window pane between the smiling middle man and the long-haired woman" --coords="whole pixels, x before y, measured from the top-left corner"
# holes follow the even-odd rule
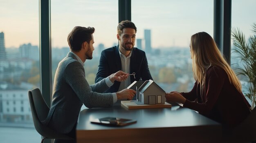
[[[190,37],[202,31],[213,37],[213,0],[132,0],[131,9],[154,81],[166,92],[190,91]]]

